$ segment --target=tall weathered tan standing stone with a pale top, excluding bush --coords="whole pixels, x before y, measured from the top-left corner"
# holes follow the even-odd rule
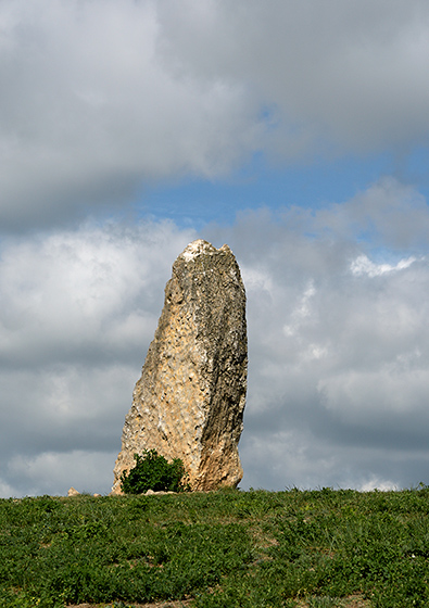
[[[173,265],[159,326],[125,418],[114,468],[156,449],[181,458],[192,490],[235,486],[248,371],[245,292],[228,248],[189,244]]]

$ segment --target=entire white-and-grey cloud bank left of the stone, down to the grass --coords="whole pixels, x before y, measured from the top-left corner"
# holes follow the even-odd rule
[[[43,467],[55,454],[64,471],[84,453],[114,463],[171,261],[193,237],[165,221],[86,225],[3,243],[0,458],[8,492],[48,491],[54,482]],[[92,483],[80,464],[81,483]],[[99,472],[106,490],[110,472]]]

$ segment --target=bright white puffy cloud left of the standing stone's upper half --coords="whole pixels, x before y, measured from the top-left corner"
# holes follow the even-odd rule
[[[71,363],[116,362],[118,350],[135,356],[156,322],[167,252],[192,235],[166,221],[11,240],[0,269],[2,365],[50,364],[59,351]]]

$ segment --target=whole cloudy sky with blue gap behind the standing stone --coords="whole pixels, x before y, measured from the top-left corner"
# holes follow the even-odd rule
[[[0,497],[110,492],[172,265],[248,296],[242,490],[429,483],[426,0],[1,0]]]

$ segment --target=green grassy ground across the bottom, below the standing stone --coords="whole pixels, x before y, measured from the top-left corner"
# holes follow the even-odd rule
[[[2,499],[0,607],[429,607],[428,512],[426,486]]]

